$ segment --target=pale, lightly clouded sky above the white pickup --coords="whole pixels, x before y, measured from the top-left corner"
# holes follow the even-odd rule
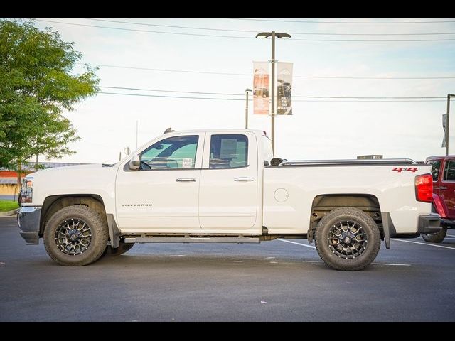
[[[83,71],[84,63],[100,65],[102,93],[63,113],[81,138],[70,145],[77,153],[50,161],[114,163],[119,153],[124,157],[125,148],[134,151],[137,141],[146,144],[167,127],[243,128],[252,62],[271,59],[271,39],[255,38],[263,31],[291,34],[288,40],[276,40],[276,59],[294,63],[293,115],[275,119],[275,156],[303,160],[381,154],[422,161],[445,153],[441,115],[447,94],[455,94],[454,19],[102,20],[35,21],[38,28],[58,31],[82,53],[75,73]],[[451,104],[449,153],[455,153],[455,99]],[[271,118],[253,115],[252,102],[249,109],[249,128],[270,136]]]

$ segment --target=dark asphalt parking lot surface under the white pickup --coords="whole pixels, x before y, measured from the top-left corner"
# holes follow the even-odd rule
[[[298,244],[296,244],[298,243]],[[454,321],[455,231],[334,271],[305,239],[137,244],[64,267],[0,218],[0,321]]]

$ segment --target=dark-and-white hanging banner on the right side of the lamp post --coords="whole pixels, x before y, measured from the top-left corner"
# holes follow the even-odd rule
[[[292,114],[292,63],[277,63],[277,115]]]

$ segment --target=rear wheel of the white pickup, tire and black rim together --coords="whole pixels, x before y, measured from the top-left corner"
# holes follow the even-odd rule
[[[343,207],[325,215],[316,227],[316,250],[331,268],[358,271],[378,255],[378,225],[362,210]]]

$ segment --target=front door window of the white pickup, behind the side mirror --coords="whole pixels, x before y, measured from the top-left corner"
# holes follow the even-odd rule
[[[194,168],[198,135],[173,136],[152,144],[141,153],[141,169]]]

